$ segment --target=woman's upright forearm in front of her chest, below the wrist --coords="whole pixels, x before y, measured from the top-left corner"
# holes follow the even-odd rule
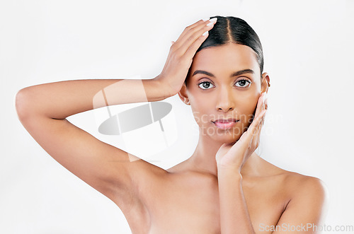
[[[236,170],[217,170],[221,233],[255,233],[242,189],[242,177]]]

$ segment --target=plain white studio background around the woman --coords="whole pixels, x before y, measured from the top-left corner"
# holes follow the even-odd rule
[[[354,226],[353,1],[2,0],[0,233],[130,233],[113,201],[25,131],[14,96],[54,81],[153,78],[171,40],[215,15],[244,18],[263,44],[271,87],[261,156],[323,180],[331,196],[326,225]],[[178,141],[150,158],[162,168],[188,158],[198,139],[190,108],[176,96],[169,101]],[[70,118],[115,142],[97,133],[92,112]]]

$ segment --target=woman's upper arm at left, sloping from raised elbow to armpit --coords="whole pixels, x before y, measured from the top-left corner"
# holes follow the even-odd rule
[[[23,126],[52,158],[120,206],[135,202],[139,180],[147,180],[157,170],[67,119],[26,114],[19,114]]]

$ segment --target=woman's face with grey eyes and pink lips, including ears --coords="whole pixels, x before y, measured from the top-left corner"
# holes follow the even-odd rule
[[[223,143],[237,141],[246,131],[268,87],[253,49],[235,43],[195,54],[186,83],[179,95],[192,107],[200,134]]]

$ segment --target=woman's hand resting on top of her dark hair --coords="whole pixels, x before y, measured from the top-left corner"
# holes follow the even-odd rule
[[[209,33],[202,34],[212,29],[216,20],[217,18],[207,21],[200,20],[189,25],[183,30],[178,40],[171,45],[164,69],[159,76],[154,78],[159,81],[161,88],[166,89],[169,96],[176,95],[181,90],[195,52],[209,35]]]

